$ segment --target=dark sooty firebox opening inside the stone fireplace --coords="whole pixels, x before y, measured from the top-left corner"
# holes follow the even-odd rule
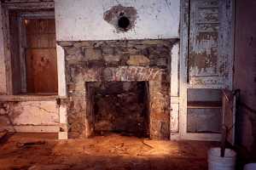
[[[87,82],[86,88],[91,134],[149,138],[148,82]]]

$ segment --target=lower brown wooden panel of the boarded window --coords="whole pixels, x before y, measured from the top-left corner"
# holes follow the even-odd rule
[[[26,50],[27,91],[29,93],[57,92],[55,48]]]

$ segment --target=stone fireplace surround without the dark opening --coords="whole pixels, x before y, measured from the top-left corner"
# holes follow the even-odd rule
[[[86,82],[148,82],[152,139],[170,138],[170,65],[176,39],[58,42],[65,50],[69,138],[93,133]],[[87,106],[86,106],[87,105]]]

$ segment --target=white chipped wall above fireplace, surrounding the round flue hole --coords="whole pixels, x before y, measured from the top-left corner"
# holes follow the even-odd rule
[[[118,31],[104,20],[113,6],[137,10],[134,26]],[[179,37],[179,0],[55,0],[57,41],[158,39]]]

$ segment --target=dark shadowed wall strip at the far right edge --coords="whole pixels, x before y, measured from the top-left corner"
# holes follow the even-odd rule
[[[256,150],[256,2],[236,3],[235,88],[241,89],[237,142]],[[254,154],[255,155],[255,154]]]

